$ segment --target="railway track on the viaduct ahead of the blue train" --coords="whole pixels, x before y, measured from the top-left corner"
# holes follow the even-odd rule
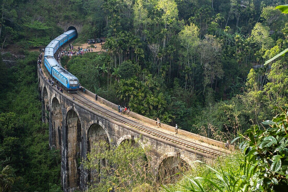
[[[196,150],[196,151],[208,154],[208,155],[213,155],[216,157],[220,156],[222,154],[225,154],[225,152],[223,152],[222,150],[203,146],[203,145],[200,145],[200,144],[197,144],[197,143],[194,143],[194,142],[182,139],[182,138],[177,138],[173,135],[169,135],[169,134],[164,133],[162,131],[159,131],[157,129],[153,129],[153,128],[147,127],[145,125],[141,125],[140,123],[137,123],[136,121],[132,121],[128,118],[125,118],[125,117],[123,117],[123,116],[121,116],[115,112],[112,112],[111,110],[108,110],[108,109],[96,104],[95,102],[91,101],[90,99],[84,97],[83,95],[81,95],[79,93],[68,93],[67,91],[65,91],[65,93],[67,95],[69,95],[70,97],[74,97],[75,100],[77,100],[79,103],[82,103],[83,105],[87,106],[88,108],[91,108],[92,110],[95,110],[98,113],[103,114],[104,116],[107,116],[107,117],[109,117],[115,121],[118,121],[118,122],[123,123],[125,125],[128,125],[130,127],[136,128],[140,131],[154,135],[158,138],[162,138],[164,140],[185,146],[187,148],[191,148],[193,150]]]

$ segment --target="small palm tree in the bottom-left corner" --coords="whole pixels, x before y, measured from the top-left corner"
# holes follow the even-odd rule
[[[12,185],[14,184],[15,178],[11,176],[12,169],[9,165],[3,168],[0,172],[0,192],[11,192]]]

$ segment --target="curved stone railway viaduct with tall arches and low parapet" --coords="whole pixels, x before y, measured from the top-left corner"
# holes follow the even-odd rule
[[[183,162],[193,167],[192,162],[195,160],[213,161],[212,155],[139,131],[74,101],[68,95],[51,86],[43,74],[40,73],[39,68],[38,81],[42,101],[42,120],[49,123],[50,147],[60,150],[61,153],[61,183],[65,192],[75,191],[76,189],[85,191],[89,182],[99,182],[98,173],[95,170],[86,170],[80,162],[86,159],[93,142],[99,142],[100,140],[118,146],[125,140],[140,138],[139,143],[143,148],[151,148],[146,156],[155,176],[167,174],[167,170],[163,167],[168,167],[168,172],[171,172],[183,165]],[[90,91],[86,90],[86,93],[94,97],[94,94]],[[117,107],[117,105],[99,96],[98,100],[108,106]],[[145,123],[155,123],[155,121],[133,112],[130,112],[130,116],[134,116]],[[153,127],[153,125],[151,126]],[[162,128],[174,132],[171,126],[162,124]],[[179,134],[219,148],[224,146],[222,142],[187,131],[179,130]],[[100,163],[104,165],[105,161],[101,160]]]

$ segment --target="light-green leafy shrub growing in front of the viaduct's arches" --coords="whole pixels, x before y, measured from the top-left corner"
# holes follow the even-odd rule
[[[137,191],[142,184],[147,185],[148,189],[153,186],[153,172],[145,155],[148,149],[144,150],[138,140],[124,140],[119,146],[111,147],[105,141],[94,144],[84,166],[91,170],[101,170],[101,183],[90,187],[89,191],[132,191],[134,188]],[[105,150],[107,148],[110,150]],[[105,167],[99,159],[105,161]]]

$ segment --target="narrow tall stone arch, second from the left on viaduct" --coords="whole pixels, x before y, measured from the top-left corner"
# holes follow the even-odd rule
[[[56,96],[52,97],[51,102],[51,147],[56,149],[61,149],[61,131],[62,131],[62,108],[60,105],[60,101]],[[60,150],[61,151],[61,150]]]

